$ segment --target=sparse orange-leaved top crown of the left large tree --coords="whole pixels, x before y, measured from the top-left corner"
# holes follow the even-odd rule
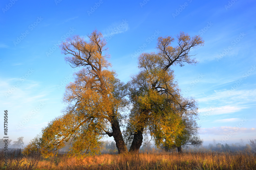
[[[106,60],[109,54],[102,34],[94,30],[88,35],[88,38],[89,42],[86,42],[83,37],[74,35],[68,37],[65,42],[62,42],[60,44],[61,53],[69,55],[65,60],[73,67],[89,66],[96,72],[111,66]]]

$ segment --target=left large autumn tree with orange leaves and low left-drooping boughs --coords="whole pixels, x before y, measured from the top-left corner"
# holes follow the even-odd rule
[[[95,152],[103,135],[113,136],[119,153],[128,152],[120,129],[127,88],[108,69],[111,64],[102,34],[95,30],[88,37],[88,42],[80,36],[69,37],[60,45],[70,66],[81,69],[66,86],[63,101],[68,106],[63,115],[42,130],[39,141],[44,156],[55,153],[70,139],[70,152]]]

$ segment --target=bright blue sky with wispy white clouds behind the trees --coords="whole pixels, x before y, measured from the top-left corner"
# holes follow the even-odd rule
[[[95,28],[124,82],[158,36],[200,35],[205,45],[192,51],[199,63],[172,68],[183,96],[198,100],[200,137],[224,144],[256,138],[255,1],[3,0],[0,7],[0,110],[8,110],[11,139],[27,143],[61,114],[75,70],[57,45]]]

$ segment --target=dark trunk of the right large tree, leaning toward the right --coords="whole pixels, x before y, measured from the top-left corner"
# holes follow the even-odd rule
[[[132,145],[129,149],[130,153],[138,153],[139,149],[142,145],[142,141],[143,141],[143,130],[144,128],[141,128],[140,130],[137,131],[136,134],[134,134],[133,136],[133,140],[132,140]]]

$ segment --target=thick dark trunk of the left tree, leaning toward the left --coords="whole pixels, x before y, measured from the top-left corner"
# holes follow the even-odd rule
[[[118,149],[118,153],[119,154],[128,153],[118,120],[116,119],[113,120],[111,123],[111,126],[112,126],[112,136],[114,137],[115,145]]]

